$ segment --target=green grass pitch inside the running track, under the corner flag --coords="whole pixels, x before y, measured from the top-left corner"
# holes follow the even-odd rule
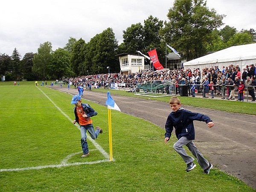
[[[175,137],[165,144],[162,128],[119,111],[111,111],[115,161],[109,162],[107,108],[96,103],[89,102],[98,112],[93,124],[104,131],[88,141],[90,156],[80,158],[71,98],[33,82],[0,82],[0,191],[255,191],[218,169],[185,172]]]

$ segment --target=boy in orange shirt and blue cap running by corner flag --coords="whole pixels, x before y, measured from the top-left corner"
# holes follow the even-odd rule
[[[74,95],[71,101],[71,104],[75,104],[76,107],[74,108],[74,113],[76,119],[73,120],[73,123],[76,122],[80,125],[81,131],[81,146],[83,150],[83,154],[81,157],[87,157],[90,155],[88,144],[87,144],[87,136],[86,131],[89,132],[91,138],[95,140],[98,135],[102,134],[102,129],[99,126],[96,126],[96,130],[93,127],[93,121],[91,119],[92,116],[97,115],[97,111],[94,111],[93,108],[90,107],[87,103],[82,103],[82,98],[79,95]]]

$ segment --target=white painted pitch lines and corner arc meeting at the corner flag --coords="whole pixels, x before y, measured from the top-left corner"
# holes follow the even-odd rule
[[[39,90],[41,90],[41,89],[39,89]],[[41,90],[41,92],[50,100],[50,102],[52,102],[52,104],[55,106],[55,108],[57,108],[64,116],[67,117],[67,119],[70,120],[70,122],[73,121],[42,90]],[[79,129],[79,125],[76,124],[76,127]],[[109,162],[109,154],[98,143],[96,143],[95,140],[93,140],[91,137],[87,137],[87,139],[89,139],[90,142],[93,143],[93,145],[102,153],[102,155],[106,159],[104,159],[104,160],[97,160],[97,161],[87,161],[87,162],[81,162],[81,163],[67,163],[67,160],[70,157],[80,153],[80,152],[77,152],[77,153],[69,154],[58,165],[46,165],[46,166],[25,167],[25,168],[16,168],[16,169],[0,169],[0,172],[25,171],[25,170],[34,170],[34,169],[44,169],[44,168],[60,168],[60,167],[66,167],[66,166],[78,166],[78,165],[84,165],[84,164],[89,164],[90,165],[90,164],[95,164],[95,163]],[[93,151],[93,150],[90,150],[90,151]]]

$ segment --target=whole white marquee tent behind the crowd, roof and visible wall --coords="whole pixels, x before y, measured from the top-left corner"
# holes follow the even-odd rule
[[[200,58],[193,59],[183,63],[184,69],[194,69],[205,67],[210,68],[239,64],[242,70],[246,65],[256,64],[256,44],[247,44],[229,47],[218,52],[205,55]]]

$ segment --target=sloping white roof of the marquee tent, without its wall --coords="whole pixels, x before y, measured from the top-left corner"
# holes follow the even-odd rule
[[[187,61],[184,65],[218,64],[221,62],[256,59],[256,44],[229,47],[221,51]]]

